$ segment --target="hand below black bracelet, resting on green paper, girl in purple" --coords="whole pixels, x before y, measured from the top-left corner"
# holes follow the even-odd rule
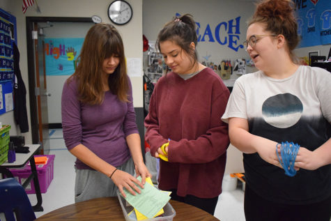
[[[132,176],[131,174],[123,172],[119,169],[117,169],[116,172],[114,172],[113,176],[111,176],[111,180],[118,187],[118,190],[121,192],[123,197],[126,197],[123,188],[128,190],[134,196],[136,195],[136,192],[138,192],[139,194],[141,192],[137,185],[139,185],[140,188],[144,188],[144,185],[142,185],[140,181],[137,180],[137,178],[134,178],[134,176]]]

